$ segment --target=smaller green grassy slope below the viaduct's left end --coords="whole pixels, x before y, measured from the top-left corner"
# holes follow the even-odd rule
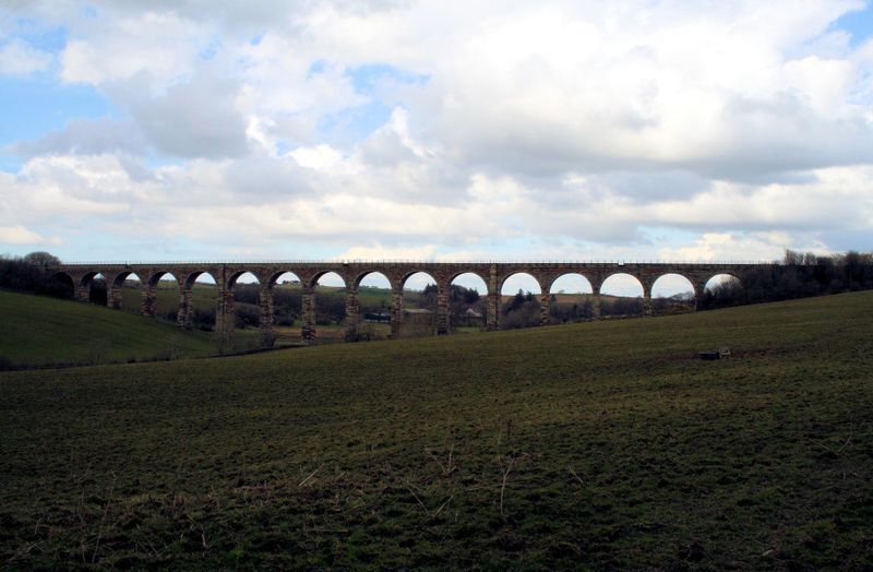
[[[12,366],[215,354],[210,336],[95,305],[0,291],[0,357]]]

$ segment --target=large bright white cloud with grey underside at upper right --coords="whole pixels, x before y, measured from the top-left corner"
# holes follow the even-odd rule
[[[414,109],[467,160],[504,172],[655,164],[742,178],[871,157],[870,129],[852,122],[862,109],[846,102],[849,63],[793,61],[796,33],[754,4],[679,12],[639,7],[621,29],[553,9],[492,20],[439,60],[447,96]],[[782,17],[808,33],[839,13],[812,9],[813,25],[800,12]]]

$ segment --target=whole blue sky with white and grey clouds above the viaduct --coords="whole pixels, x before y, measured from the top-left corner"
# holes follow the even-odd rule
[[[0,1],[0,252],[873,250],[857,0]]]

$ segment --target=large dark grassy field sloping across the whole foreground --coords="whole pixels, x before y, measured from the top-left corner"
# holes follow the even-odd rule
[[[870,569],[871,308],[0,373],[0,562]]]

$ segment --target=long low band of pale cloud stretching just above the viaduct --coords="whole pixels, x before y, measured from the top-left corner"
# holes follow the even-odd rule
[[[871,171],[860,168],[824,170],[794,184],[718,183],[687,202],[644,204],[591,191],[578,180],[571,198],[551,204],[511,177],[480,174],[468,182],[465,201],[431,204],[379,196],[366,176],[337,178],[335,171],[349,169],[344,162],[354,160],[318,170],[291,157],[201,159],[141,178],[111,155],[37,157],[17,177],[7,178],[10,212],[0,222],[51,224],[59,233],[75,233],[82,218],[70,215],[79,213],[101,233],[137,240],[169,237],[243,250],[318,243],[348,258],[602,259],[646,258],[647,252],[648,258],[713,260],[773,259],[823,229],[865,234],[873,213]],[[651,226],[686,227],[703,238],[653,250],[645,239]],[[719,237],[730,240],[719,246]],[[527,246],[519,248],[519,240]],[[625,246],[614,251],[581,246],[597,242]],[[516,246],[510,254],[502,245],[511,243]],[[552,252],[557,247],[560,254]]]

